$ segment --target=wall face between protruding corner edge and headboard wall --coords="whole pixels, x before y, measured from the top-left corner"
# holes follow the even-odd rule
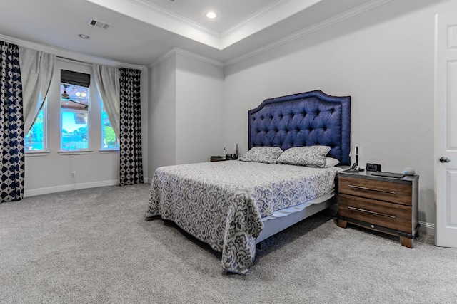
[[[176,164],[224,152],[222,66],[176,54]]]

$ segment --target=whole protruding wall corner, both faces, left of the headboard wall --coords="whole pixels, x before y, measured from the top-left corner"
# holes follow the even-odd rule
[[[149,177],[158,167],[209,162],[223,144],[221,65],[171,51],[149,69]]]

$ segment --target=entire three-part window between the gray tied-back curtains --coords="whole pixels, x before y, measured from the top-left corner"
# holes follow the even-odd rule
[[[63,153],[90,152],[91,146],[94,145],[99,146],[100,150],[119,150],[119,138],[114,133],[101,98],[96,98],[96,101],[92,100],[91,103],[90,93],[94,92],[89,88],[90,74],[71,70],[60,71],[61,81],[56,83],[60,85],[60,95],[49,95],[44,102],[34,125],[25,136],[25,151],[46,152],[49,148],[47,145]],[[91,116],[90,112],[93,111],[96,113],[92,113]],[[50,119],[47,123],[53,128],[51,137],[47,135],[46,117]],[[96,136],[96,142],[91,142],[91,130],[101,132],[101,137]]]

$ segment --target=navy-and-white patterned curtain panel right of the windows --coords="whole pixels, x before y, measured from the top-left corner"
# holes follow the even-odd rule
[[[141,70],[120,68],[120,177],[119,185],[143,183],[141,157]]]

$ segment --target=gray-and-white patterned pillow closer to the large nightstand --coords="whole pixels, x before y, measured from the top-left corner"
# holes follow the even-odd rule
[[[293,147],[284,151],[276,162],[278,164],[299,164],[306,166],[312,164],[316,167],[326,165],[326,155],[330,152],[328,146]]]

